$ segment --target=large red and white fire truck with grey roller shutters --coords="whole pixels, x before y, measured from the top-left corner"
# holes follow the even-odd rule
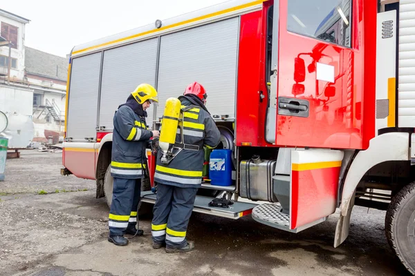
[[[297,233],[340,209],[337,247],[354,205],[387,210],[389,244],[415,273],[412,2],[232,0],[75,46],[62,174],[95,179],[111,204],[117,107],[150,83],[160,106],[147,127],[158,129],[166,99],[199,81],[234,173],[232,186],[205,175],[195,212]],[[150,179],[140,212],[155,201]],[[223,195],[234,204],[208,206]]]

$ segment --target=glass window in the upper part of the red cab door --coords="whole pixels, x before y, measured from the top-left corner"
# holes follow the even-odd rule
[[[287,30],[351,47],[351,0],[288,0]]]

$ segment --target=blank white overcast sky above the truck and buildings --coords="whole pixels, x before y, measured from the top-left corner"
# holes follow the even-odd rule
[[[30,20],[25,45],[60,57],[73,46],[227,0],[8,0],[0,9]]]

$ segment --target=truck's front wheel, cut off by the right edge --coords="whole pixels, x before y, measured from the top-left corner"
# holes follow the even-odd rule
[[[385,231],[389,246],[400,262],[415,274],[415,182],[392,199],[386,213]]]

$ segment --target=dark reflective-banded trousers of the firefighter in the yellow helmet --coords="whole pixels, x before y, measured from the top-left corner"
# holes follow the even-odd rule
[[[108,220],[110,235],[124,235],[127,228],[136,228],[140,191],[141,179],[113,178],[113,198]]]

